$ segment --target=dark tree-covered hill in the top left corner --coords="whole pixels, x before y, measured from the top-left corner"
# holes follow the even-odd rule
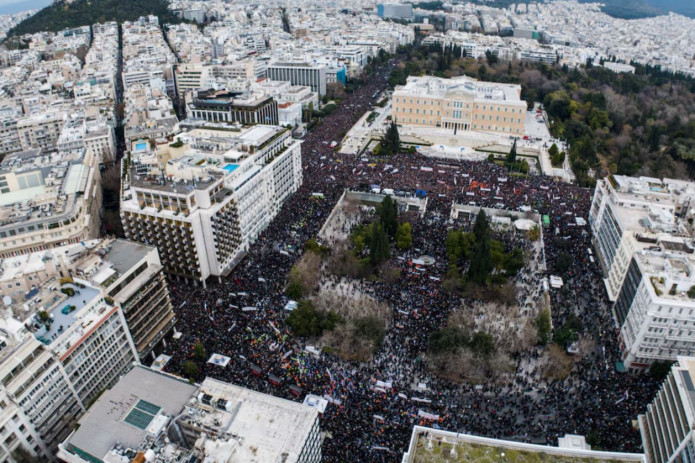
[[[17,24],[7,36],[56,32],[107,21],[133,21],[150,14],[158,16],[160,24],[180,23],[181,19],[167,5],[166,0],[74,0],[69,4],[58,1]]]

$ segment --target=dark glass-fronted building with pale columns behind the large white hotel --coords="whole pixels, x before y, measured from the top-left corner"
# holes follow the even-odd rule
[[[188,104],[190,117],[208,122],[277,125],[278,105],[263,93],[202,91]]]

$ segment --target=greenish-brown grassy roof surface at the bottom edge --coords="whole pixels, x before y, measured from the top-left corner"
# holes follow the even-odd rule
[[[505,447],[493,447],[482,444],[459,442],[454,454],[451,453],[453,444],[432,441],[432,449],[427,449],[427,439],[420,437],[418,449],[412,460],[414,463],[618,463],[624,460],[608,460],[604,458],[568,457],[546,452],[517,450]]]

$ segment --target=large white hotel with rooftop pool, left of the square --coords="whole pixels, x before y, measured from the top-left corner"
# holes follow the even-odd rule
[[[226,275],[302,183],[301,142],[269,125],[193,122],[176,141],[134,141],[123,163],[126,236],[157,246],[170,275]]]

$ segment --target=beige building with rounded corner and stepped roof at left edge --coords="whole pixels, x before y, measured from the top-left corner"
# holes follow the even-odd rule
[[[84,148],[8,155],[0,163],[0,258],[99,233],[98,160]]]

